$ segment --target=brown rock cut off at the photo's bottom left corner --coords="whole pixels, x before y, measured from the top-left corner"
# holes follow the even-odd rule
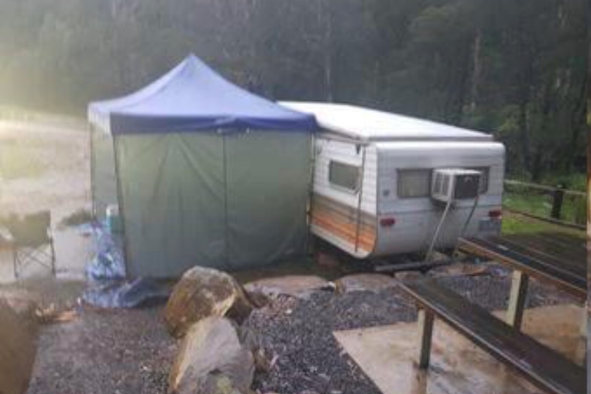
[[[36,336],[26,321],[0,300],[0,393],[27,391],[36,353]]]

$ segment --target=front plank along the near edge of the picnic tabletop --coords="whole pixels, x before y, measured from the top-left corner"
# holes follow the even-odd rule
[[[523,271],[538,280],[555,284],[575,297],[586,299],[587,282],[586,267],[573,268],[572,264],[559,266],[552,262],[533,258],[511,250],[505,245],[499,245],[480,238],[461,238],[459,249],[477,256],[490,258],[507,265],[511,269]]]

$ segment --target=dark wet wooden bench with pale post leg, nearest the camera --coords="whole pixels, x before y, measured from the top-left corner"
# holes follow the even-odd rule
[[[515,330],[484,308],[431,279],[404,282],[402,289],[420,306],[418,365],[421,369],[429,367],[433,319],[437,316],[540,389],[555,394],[585,393],[583,367]]]

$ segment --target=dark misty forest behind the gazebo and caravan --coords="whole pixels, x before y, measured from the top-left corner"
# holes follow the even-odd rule
[[[0,0],[0,104],[84,116],[188,53],[269,99],[490,132],[507,169],[586,167],[585,0]]]

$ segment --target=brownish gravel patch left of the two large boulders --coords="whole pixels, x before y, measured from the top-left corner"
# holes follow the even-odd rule
[[[86,309],[45,326],[28,393],[166,393],[176,345],[161,312]]]

